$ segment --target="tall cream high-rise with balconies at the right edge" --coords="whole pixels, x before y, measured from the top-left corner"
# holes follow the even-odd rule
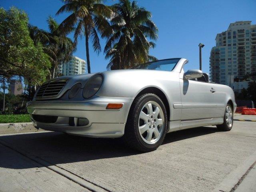
[[[212,82],[234,89],[234,82],[256,73],[256,25],[251,21],[236,21],[227,31],[218,33],[215,40],[210,55]]]

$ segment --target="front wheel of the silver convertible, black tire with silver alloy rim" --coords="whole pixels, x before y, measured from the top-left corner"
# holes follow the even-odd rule
[[[152,93],[142,94],[130,108],[124,141],[136,150],[150,152],[162,144],[167,128],[168,117],[162,100]]]

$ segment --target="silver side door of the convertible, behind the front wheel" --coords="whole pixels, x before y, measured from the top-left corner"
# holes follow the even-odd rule
[[[214,88],[208,82],[187,80],[180,74],[180,92],[182,103],[181,120],[200,120],[216,117]]]

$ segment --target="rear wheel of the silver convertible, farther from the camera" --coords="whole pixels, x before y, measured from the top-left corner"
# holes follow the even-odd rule
[[[230,131],[233,126],[233,108],[230,104],[226,105],[224,113],[224,122],[221,125],[217,125],[219,131]]]

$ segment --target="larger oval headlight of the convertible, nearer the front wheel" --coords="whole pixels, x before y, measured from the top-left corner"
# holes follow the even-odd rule
[[[88,99],[94,96],[102,85],[103,77],[100,74],[92,76],[88,82],[86,82],[83,90],[83,97]]]

